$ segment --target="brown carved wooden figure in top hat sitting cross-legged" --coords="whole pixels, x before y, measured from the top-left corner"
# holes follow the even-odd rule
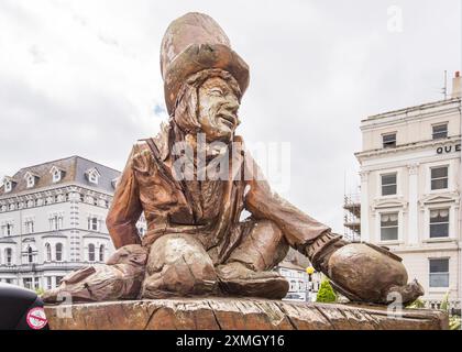
[[[118,251],[106,265],[66,276],[45,301],[63,293],[75,301],[279,299],[288,283],[271,270],[289,246],[352,300],[387,304],[397,293],[408,302],[422,295],[416,280],[407,284],[399,257],[344,241],[271,190],[234,133],[249,67],[210,16],[188,13],[169,25],[161,67],[170,119],[156,138],[134,145],[118,184],[107,218]],[[251,217],[240,221],[244,209]],[[142,212],[143,239],[135,227]]]

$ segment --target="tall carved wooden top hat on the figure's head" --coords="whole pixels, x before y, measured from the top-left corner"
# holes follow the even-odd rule
[[[207,14],[190,12],[173,21],[162,41],[161,69],[169,114],[185,80],[207,68],[229,72],[242,94],[249,86],[249,66],[231,50],[220,25]]]

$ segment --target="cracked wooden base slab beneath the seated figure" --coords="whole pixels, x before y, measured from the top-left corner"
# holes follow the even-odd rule
[[[376,306],[264,299],[111,301],[47,306],[45,310],[51,328],[56,330],[448,329],[448,316],[439,310],[388,312],[386,307]]]

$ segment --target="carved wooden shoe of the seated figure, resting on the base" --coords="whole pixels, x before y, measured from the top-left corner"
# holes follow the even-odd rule
[[[289,289],[288,282],[275,272],[254,272],[233,262],[217,267],[220,290],[226,296],[282,299]]]

